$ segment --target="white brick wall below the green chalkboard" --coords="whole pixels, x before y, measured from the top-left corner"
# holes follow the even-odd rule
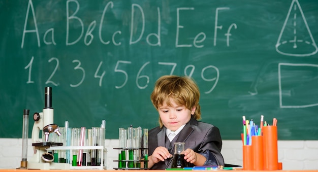
[[[22,139],[0,139],[0,169],[20,166]],[[28,158],[32,156],[31,140]],[[226,163],[242,165],[241,141],[224,140],[222,155]],[[107,169],[117,166],[118,140],[106,140]],[[278,160],[283,169],[318,169],[318,141],[278,141]]]

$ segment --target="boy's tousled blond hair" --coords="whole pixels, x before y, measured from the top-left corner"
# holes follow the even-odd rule
[[[201,110],[199,105],[200,91],[196,82],[190,77],[179,76],[162,76],[154,86],[151,93],[151,102],[156,110],[166,103],[171,106],[170,98],[172,98],[177,105],[185,106],[185,108],[192,111],[196,107],[194,118],[201,119]],[[159,118],[160,127],[163,123]]]

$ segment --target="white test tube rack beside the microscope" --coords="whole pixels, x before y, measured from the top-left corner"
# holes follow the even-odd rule
[[[104,146],[54,146],[47,149],[49,150],[70,150],[72,152],[73,150],[101,150],[103,153],[101,154],[101,165],[99,166],[72,166],[70,164],[70,169],[106,169],[106,154],[107,149]],[[105,158],[104,158],[105,154]],[[68,157],[71,159],[71,157]],[[103,161],[104,160],[104,161]],[[104,164],[105,162],[105,164]]]

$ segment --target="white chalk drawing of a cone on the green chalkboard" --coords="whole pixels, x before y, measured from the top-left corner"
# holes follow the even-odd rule
[[[298,0],[290,6],[275,47],[288,56],[310,56],[318,51]]]

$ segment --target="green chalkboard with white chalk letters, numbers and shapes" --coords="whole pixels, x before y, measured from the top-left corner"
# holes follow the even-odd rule
[[[317,16],[316,0],[0,1],[0,137],[22,137],[45,87],[59,126],[152,128],[154,82],[187,75],[222,139],[264,115],[279,140],[317,140]]]

